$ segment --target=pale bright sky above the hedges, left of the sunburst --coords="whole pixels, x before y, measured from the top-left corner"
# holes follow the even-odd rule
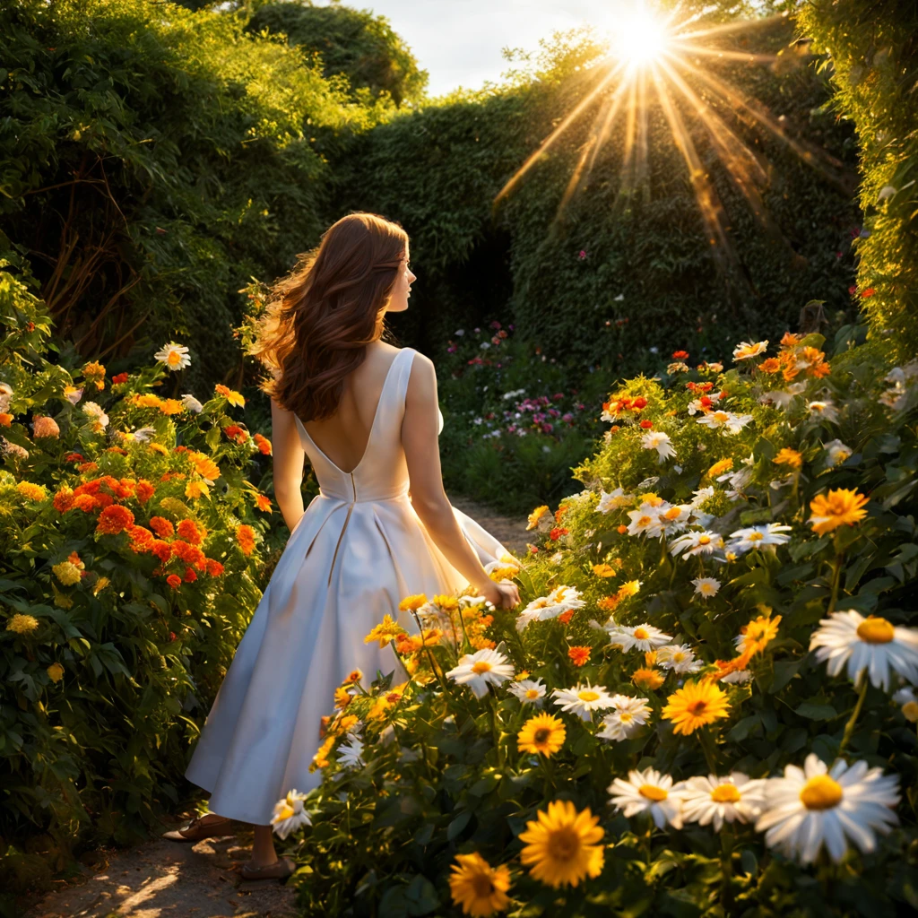
[[[325,0],[316,0],[319,6]],[[345,0],[385,16],[431,74],[431,95],[477,89],[509,68],[500,50],[535,50],[558,29],[587,23],[605,31],[621,0]]]

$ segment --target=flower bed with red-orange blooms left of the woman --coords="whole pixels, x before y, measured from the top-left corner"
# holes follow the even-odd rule
[[[183,393],[187,348],[138,372],[70,371],[70,355],[48,360],[43,305],[2,279],[0,835],[41,833],[28,850],[45,858],[6,851],[16,889],[78,835],[139,837],[179,799],[261,595],[273,508],[245,477],[270,442],[239,420],[239,393]]]

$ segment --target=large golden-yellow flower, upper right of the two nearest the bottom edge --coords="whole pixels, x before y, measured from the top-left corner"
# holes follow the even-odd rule
[[[577,886],[581,879],[599,877],[604,863],[602,845],[605,834],[589,808],[577,812],[570,800],[553,800],[547,811],[526,823],[520,841],[523,864],[532,864],[532,877],[557,889]]]

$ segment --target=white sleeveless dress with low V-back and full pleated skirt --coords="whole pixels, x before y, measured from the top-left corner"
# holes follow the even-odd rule
[[[331,462],[297,418],[319,494],[290,533],[185,772],[211,791],[211,812],[266,825],[288,790],[317,787],[321,772],[309,765],[334,689],[355,668],[372,680],[396,665],[390,648],[364,644],[365,635],[386,613],[417,633],[401,599],[468,585],[408,496],[401,423],[415,353],[402,348],[390,364],[353,472]],[[453,514],[482,565],[509,554],[461,510]]]

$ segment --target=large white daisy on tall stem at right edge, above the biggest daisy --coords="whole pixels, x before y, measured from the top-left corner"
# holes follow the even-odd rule
[[[830,676],[837,676],[847,664],[853,682],[867,670],[877,688],[889,691],[891,667],[918,683],[918,628],[896,627],[873,615],[865,619],[853,609],[833,612],[820,625],[812,633],[810,649],[820,663],[828,661]]]

